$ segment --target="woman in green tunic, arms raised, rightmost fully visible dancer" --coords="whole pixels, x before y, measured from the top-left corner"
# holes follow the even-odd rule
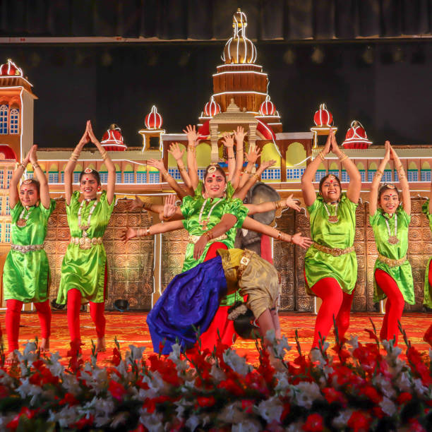
[[[385,166],[395,161],[402,186],[402,205],[396,186],[384,184],[378,191]],[[381,340],[395,340],[397,344],[398,321],[402,317],[404,301],[414,304],[414,282],[411,265],[407,260],[408,225],[411,221],[411,197],[404,168],[395,150],[385,141],[385,156],[371,184],[369,220],[375,235],[378,259],[373,270],[373,301],[387,297]]]

